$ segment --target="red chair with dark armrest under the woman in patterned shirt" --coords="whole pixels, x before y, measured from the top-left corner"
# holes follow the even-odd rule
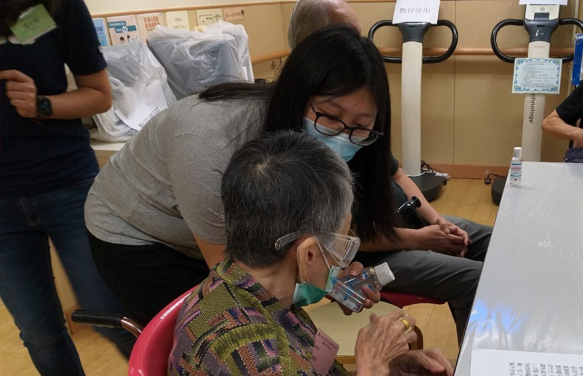
[[[198,286],[188,290],[164,307],[145,328],[122,315],[73,311],[72,320],[82,324],[120,327],[138,337],[129,356],[129,376],[166,376],[168,356],[174,343],[174,325],[182,303]]]

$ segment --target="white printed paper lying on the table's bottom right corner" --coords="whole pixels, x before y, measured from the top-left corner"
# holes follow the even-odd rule
[[[470,376],[583,376],[583,354],[472,350]]]

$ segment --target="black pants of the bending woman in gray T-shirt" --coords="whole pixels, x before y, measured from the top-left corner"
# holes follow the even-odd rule
[[[113,244],[89,233],[97,269],[129,317],[146,325],[162,308],[209,275],[205,260],[161,243]]]

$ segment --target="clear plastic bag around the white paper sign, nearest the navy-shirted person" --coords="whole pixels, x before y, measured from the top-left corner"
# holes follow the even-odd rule
[[[127,44],[104,47],[103,56],[107,62],[113,105],[104,113],[93,116],[103,141],[124,141],[138,131],[132,129],[120,119],[115,111],[128,114],[138,105],[144,89],[150,83],[159,80],[166,104],[176,102],[168,86],[166,72],[156,60],[146,44],[132,41]]]

